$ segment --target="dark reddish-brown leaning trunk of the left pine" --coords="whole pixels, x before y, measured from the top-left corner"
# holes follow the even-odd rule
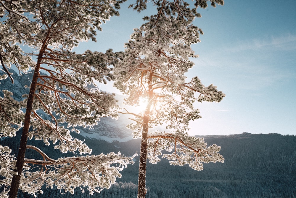
[[[16,169],[15,172],[16,175],[13,175],[11,186],[9,189],[9,196],[8,198],[17,198],[17,191],[20,186],[20,178],[22,175],[22,168],[24,165],[24,159],[25,159],[25,153],[26,153],[26,147],[27,147],[27,140],[28,140],[28,133],[30,128],[30,118],[31,118],[31,111],[33,108],[33,100],[34,100],[34,93],[36,89],[36,84],[38,80],[39,75],[39,68],[40,68],[40,62],[42,58],[43,50],[40,51],[38,55],[38,61],[34,70],[32,83],[30,86],[30,92],[28,96],[27,106],[26,106],[26,113],[25,113],[25,120],[24,120],[24,126],[22,129],[22,137],[20,139],[20,148],[17,155],[17,161],[16,161]]]

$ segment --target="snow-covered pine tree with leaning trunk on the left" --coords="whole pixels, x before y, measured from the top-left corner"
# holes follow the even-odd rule
[[[109,66],[118,63],[121,53],[76,54],[72,49],[81,41],[95,40],[96,28],[118,15],[116,9],[123,1],[0,1],[0,58],[6,72],[0,79],[9,76],[13,83],[8,70],[12,65],[20,74],[30,68],[33,72],[26,99],[15,101],[12,90],[3,90],[0,98],[0,136],[14,136],[22,127],[16,159],[9,148],[0,146],[1,197],[9,193],[16,198],[18,189],[42,193],[44,184],[71,193],[88,186],[93,193],[109,188],[121,176],[119,171],[132,163],[133,157],[120,153],[51,159],[27,145],[28,138],[35,138],[62,152],[91,153],[70,131],[79,132],[76,126],[91,127],[103,116],[117,116],[113,95],[100,91],[96,82],[113,78]],[[26,149],[34,149],[43,160],[25,159]]]

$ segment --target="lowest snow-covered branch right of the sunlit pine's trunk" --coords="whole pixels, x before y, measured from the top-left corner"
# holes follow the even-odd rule
[[[187,133],[157,132],[148,134],[148,158],[152,164],[160,161],[158,156],[170,160],[171,165],[184,166],[188,164],[194,170],[203,170],[202,163],[224,162],[218,152],[221,147],[215,144],[207,147],[203,138],[191,137]],[[165,150],[171,153],[162,153]]]

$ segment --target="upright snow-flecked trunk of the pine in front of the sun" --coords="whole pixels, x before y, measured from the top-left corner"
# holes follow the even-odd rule
[[[152,77],[153,72],[149,75],[148,80],[148,103],[143,116],[143,131],[141,138],[141,149],[140,149],[140,162],[139,162],[139,180],[138,180],[138,198],[145,198],[146,189],[146,165],[147,165],[147,140],[148,140],[148,129],[150,119],[150,108],[152,105],[153,90],[152,90]]]

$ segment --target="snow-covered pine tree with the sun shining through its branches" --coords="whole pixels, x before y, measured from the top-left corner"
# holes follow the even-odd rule
[[[146,194],[146,162],[160,161],[159,156],[170,160],[170,164],[189,164],[194,170],[202,170],[202,163],[223,162],[218,153],[220,147],[207,144],[201,138],[190,137],[185,131],[189,121],[200,118],[194,109],[195,101],[220,102],[225,94],[216,86],[205,86],[198,77],[186,82],[184,74],[194,63],[190,57],[197,57],[191,45],[199,42],[201,29],[192,25],[197,7],[206,8],[207,1],[197,0],[191,9],[183,0],[152,0],[157,14],[145,17],[140,28],[135,28],[131,40],[126,43],[126,56],[115,66],[115,86],[128,97],[125,103],[137,105],[146,100],[146,109],[131,114],[134,123],[128,125],[135,138],[141,137],[138,198]],[[223,5],[221,0],[211,0]],[[146,1],[131,5],[141,11]],[[199,95],[197,95],[199,94]],[[165,124],[167,131],[152,131],[152,126]],[[165,150],[166,153],[162,153]],[[167,153],[170,152],[170,153]]]

